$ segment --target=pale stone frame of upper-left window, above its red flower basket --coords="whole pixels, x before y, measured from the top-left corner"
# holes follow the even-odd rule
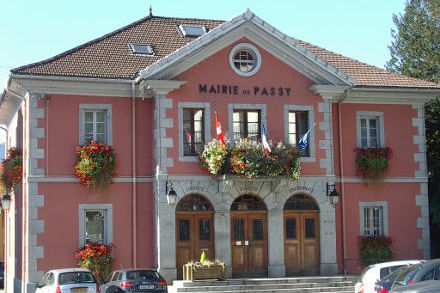
[[[80,104],[79,105],[79,145],[85,144],[85,113],[87,111],[105,111],[105,144],[112,145],[112,105],[111,104]]]

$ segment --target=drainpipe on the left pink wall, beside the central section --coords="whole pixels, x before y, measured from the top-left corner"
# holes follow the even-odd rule
[[[131,144],[132,144],[132,215],[133,215],[133,267],[136,268],[136,81],[131,82]]]

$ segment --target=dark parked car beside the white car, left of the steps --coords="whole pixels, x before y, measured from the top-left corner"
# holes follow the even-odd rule
[[[112,272],[101,286],[102,293],[168,292],[167,282],[154,269],[125,269]]]

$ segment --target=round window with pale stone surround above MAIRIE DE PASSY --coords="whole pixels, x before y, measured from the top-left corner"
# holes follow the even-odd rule
[[[260,69],[261,55],[255,46],[242,43],[232,48],[229,63],[238,75],[252,76]]]

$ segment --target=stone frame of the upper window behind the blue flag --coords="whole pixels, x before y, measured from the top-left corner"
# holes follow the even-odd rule
[[[289,112],[303,111],[308,112],[309,129],[315,123],[315,110],[313,106],[308,105],[284,105],[284,141],[289,143]],[[315,127],[310,131],[309,140],[309,156],[300,157],[300,162],[315,162],[316,161],[316,149],[315,149]]]

